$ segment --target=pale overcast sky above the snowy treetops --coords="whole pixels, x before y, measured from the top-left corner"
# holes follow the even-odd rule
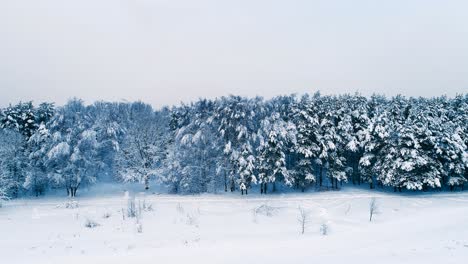
[[[468,92],[468,1],[0,0],[0,106]]]

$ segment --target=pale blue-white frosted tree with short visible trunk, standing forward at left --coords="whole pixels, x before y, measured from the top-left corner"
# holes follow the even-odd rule
[[[71,197],[80,186],[97,180],[101,163],[96,159],[98,142],[91,127],[87,108],[78,99],[59,108],[48,125],[51,136],[44,144],[48,177]]]

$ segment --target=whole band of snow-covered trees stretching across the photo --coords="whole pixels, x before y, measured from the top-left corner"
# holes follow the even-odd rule
[[[0,111],[0,196],[152,179],[174,193],[453,190],[468,180],[468,95],[222,97],[154,110],[72,99]]]

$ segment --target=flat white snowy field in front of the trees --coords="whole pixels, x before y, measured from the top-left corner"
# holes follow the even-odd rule
[[[0,262],[468,261],[468,192],[393,195],[348,188],[269,196],[136,193],[137,207],[139,201],[141,207],[143,201],[152,206],[142,210],[139,226],[126,215],[122,188],[100,193],[99,198],[95,198],[99,188],[82,192],[77,208],[66,208],[68,199],[58,195],[4,203]],[[369,222],[372,197],[378,214]],[[304,235],[299,207],[309,216]],[[88,220],[99,225],[85,227]]]

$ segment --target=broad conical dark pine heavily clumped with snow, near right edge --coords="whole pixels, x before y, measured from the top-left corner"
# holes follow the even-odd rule
[[[419,102],[411,104],[405,108],[406,119],[396,117],[395,129],[381,150],[376,163],[380,181],[399,191],[441,187],[441,164],[433,156],[434,134],[429,129],[432,120]]]

